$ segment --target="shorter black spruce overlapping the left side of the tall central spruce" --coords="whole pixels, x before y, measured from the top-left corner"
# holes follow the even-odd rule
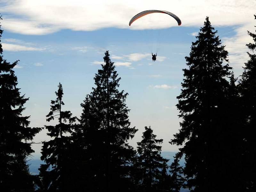
[[[76,150],[76,182],[78,191],[102,191],[105,187],[104,136],[100,130],[97,102],[92,95],[86,95],[81,103],[83,112],[72,133]],[[81,183],[83,183],[81,185]]]

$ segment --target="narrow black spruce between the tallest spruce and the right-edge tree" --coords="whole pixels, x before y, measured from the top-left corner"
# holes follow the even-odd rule
[[[222,140],[220,144],[224,143],[222,149],[222,162],[223,167],[219,174],[226,182],[227,188],[233,191],[244,191],[244,110],[239,96],[239,90],[236,86],[237,78],[234,77],[232,72],[229,76],[229,87],[227,90],[227,100],[225,103],[225,113],[222,114],[223,131],[221,132]],[[234,185],[233,183],[237,183]]]

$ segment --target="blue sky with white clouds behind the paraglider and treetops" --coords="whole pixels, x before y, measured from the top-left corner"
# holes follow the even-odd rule
[[[247,30],[255,31],[255,7],[255,0],[1,0],[1,43],[4,59],[20,60],[15,73],[21,94],[29,97],[23,114],[30,116],[31,127],[54,124],[45,116],[59,82],[64,109],[79,117],[80,103],[92,91],[93,77],[109,50],[122,78],[119,89],[129,93],[131,126],[139,129],[130,144],[136,147],[150,125],[157,138],[164,139],[162,150],[175,152],[179,147],[168,141],[180,129],[176,97],[191,42],[209,16],[239,77],[248,60],[245,44],[252,42]],[[134,15],[151,9],[176,14],[182,25],[166,14],[153,13],[129,26]],[[157,52],[156,62],[151,52]],[[34,142],[49,140],[46,133],[38,133]],[[33,144],[35,158],[40,148]]]

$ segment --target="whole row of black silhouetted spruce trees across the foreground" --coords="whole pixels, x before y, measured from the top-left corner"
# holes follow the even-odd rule
[[[137,148],[129,144],[138,129],[129,121],[128,93],[119,90],[121,77],[108,51],[92,92],[81,103],[81,116],[63,110],[65,94],[59,83],[45,114],[46,121],[57,124],[29,127],[29,116],[22,116],[28,98],[20,94],[13,70],[19,60],[4,60],[2,33],[0,28],[0,191],[256,191],[256,33],[248,31],[254,42],[246,44],[248,61],[238,79],[206,17],[185,57],[176,105],[180,130],[169,140],[179,152],[171,165],[161,154],[163,140],[154,128],[145,125]],[[33,175],[27,157],[42,129],[51,139],[42,141],[43,163]]]

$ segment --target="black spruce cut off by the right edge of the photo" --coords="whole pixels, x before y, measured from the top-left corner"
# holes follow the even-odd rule
[[[254,15],[256,19],[256,15]],[[255,26],[256,27],[256,26]],[[239,82],[244,112],[244,182],[245,191],[256,191],[256,34],[248,31],[253,43],[246,44],[249,60],[245,63],[244,72]]]

